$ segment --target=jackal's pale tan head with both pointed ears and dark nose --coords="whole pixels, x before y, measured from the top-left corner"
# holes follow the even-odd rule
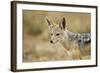
[[[52,22],[49,18],[46,17],[46,21],[48,23],[49,31],[50,31],[50,42],[51,43],[57,43],[59,41],[62,41],[64,38],[64,31],[65,31],[65,25],[66,21],[65,18],[63,18],[59,24],[55,24]]]

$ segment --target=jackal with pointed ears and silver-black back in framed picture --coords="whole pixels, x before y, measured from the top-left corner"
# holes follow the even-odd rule
[[[81,59],[81,49],[91,42],[90,33],[75,33],[66,28],[66,19],[63,18],[59,24],[52,22],[46,17],[51,35],[51,43],[60,42],[66,49],[67,54],[74,60]]]

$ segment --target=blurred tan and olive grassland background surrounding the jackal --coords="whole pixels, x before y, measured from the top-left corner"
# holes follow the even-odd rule
[[[91,14],[23,10],[23,62],[71,60],[60,43],[51,44],[45,17],[58,24],[66,18],[66,28],[72,32],[91,31]],[[90,44],[83,50],[82,59],[90,59]]]

